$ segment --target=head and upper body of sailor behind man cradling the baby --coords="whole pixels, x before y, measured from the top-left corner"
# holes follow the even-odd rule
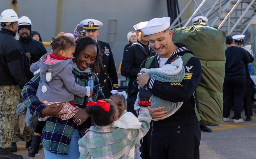
[[[151,57],[152,54],[155,55],[155,52],[150,48],[147,36],[145,36],[140,30],[141,28],[145,27],[147,23],[148,22],[140,22],[139,24],[133,26],[136,30],[138,41],[126,48],[123,52],[121,75],[127,77],[128,96],[133,91],[133,82],[137,78],[137,74],[142,62]],[[133,109],[133,106],[128,106],[127,110],[131,111],[130,109]]]

